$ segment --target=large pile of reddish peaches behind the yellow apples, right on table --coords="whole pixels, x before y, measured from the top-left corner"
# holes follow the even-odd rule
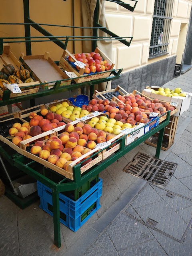
[[[106,111],[105,114],[109,118],[114,118],[116,121],[135,125],[136,122],[149,122],[148,115],[151,112],[159,113],[160,115],[166,113],[168,110],[173,111],[174,106],[170,106],[170,102],[160,103],[158,99],[149,100],[141,97],[139,94],[129,94],[125,96],[118,95],[118,102],[109,100],[92,99],[88,106],[82,105],[83,109],[89,112]],[[118,106],[118,108],[117,108]]]

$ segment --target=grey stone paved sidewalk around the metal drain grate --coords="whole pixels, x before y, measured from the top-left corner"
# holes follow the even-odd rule
[[[165,86],[191,91],[192,70]],[[0,255],[191,256],[192,101],[179,118],[174,145],[160,154],[162,160],[178,164],[165,188],[122,171],[137,152],[155,154],[142,143],[103,170],[102,207],[75,233],[61,224],[59,250],[52,246],[52,217],[39,202],[20,210],[6,196],[0,198]],[[148,218],[157,222],[154,228],[146,226]]]

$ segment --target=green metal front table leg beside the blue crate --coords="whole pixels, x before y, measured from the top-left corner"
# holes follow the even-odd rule
[[[53,200],[53,226],[54,226],[54,244],[61,247],[61,231],[60,231],[60,211],[59,211],[59,192],[52,189]]]

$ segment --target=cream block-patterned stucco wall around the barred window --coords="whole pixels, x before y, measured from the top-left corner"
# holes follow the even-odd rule
[[[132,2],[128,0],[124,0],[124,2],[132,5]],[[148,60],[154,0],[138,0],[134,12],[130,12],[122,6],[118,6],[118,4],[106,1],[106,20],[110,30],[118,36],[133,36],[130,47],[113,42],[113,61],[116,63],[115,67],[124,68],[123,72],[127,72],[176,55],[180,26],[181,23],[186,23],[188,27],[191,4],[192,0],[174,0],[173,20],[170,26],[169,54]],[[186,33],[184,35],[184,45]],[[182,52],[183,50],[180,49]]]

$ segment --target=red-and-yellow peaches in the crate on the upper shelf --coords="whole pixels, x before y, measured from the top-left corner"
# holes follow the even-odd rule
[[[102,72],[111,69],[111,65],[108,63],[108,60],[103,60],[102,56],[98,52],[90,52],[90,53],[76,53],[74,54],[76,60],[83,62],[86,64],[84,73],[90,74],[90,72]],[[75,62],[75,60],[68,56],[68,60],[70,62]],[[80,67],[76,66],[77,70],[80,70]]]

